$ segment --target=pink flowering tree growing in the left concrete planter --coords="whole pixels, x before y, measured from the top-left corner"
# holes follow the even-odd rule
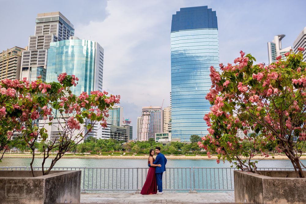
[[[58,81],[44,83],[38,79],[29,83],[24,78],[0,83],[0,147],[7,149],[14,140],[27,145],[32,150],[33,176],[35,142],[45,144],[42,168],[43,175],[47,175],[66,152],[92,133],[95,125],[106,127],[108,109],[120,100],[120,96],[107,96],[105,91],[74,95],[70,90],[77,85],[74,75],[60,74]],[[48,129],[53,130],[51,137]],[[54,149],[58,151],[50,158]],[[45,167],[47,160],[50,165]]]

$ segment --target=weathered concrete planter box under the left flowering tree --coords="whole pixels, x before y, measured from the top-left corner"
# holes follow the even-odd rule
[[[0,203],[79,203],[81,171],[0,171]]]

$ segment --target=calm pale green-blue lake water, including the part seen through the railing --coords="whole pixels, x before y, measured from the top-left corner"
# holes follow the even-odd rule
[[[28,167],[30,162],[31,158],[3,158],[0,167]],[[41,162],[42,159],[37,158],[33,166],[41,167]],[[302,160],[302,162],[306,164],[306,160]],[[45,167],[48,164],[50,164],[50,160],[46,162]],[[223,164],[221,161],[220,164],[217,164],[215,159],[168,159],[167,169],[163,176],[164,190],[174,192],[188,192],[188,189],[208,192],[233,190],[234,169],[221,169],[230,166],[229,162]],[[263,160],[257,166],[258,168],[292,168],[289,160]],[[127,189],[136,191],[136,189],[141,189],[144,185],[148,170],[147,159],[62,158],[56,163],[55,167],[85,167],[82,169],[81,189],[86,190],[86,192],[131,192],[126,191]],[[100,169],[90,167],[100,167]],[[137,171],[136,169],[125,169],[136,167],[144,169],[137,169]],[[180,169],[176,167],[203,168]],[[97,189],[99,190],[97,191]]]

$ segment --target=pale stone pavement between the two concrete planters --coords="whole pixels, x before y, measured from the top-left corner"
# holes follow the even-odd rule
[[[233,203],[234,192],[171,193],[141,195],[134,193],[81,193],[81,203]]]

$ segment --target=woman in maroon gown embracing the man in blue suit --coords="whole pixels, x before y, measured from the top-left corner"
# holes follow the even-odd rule
[[[156,177],[155,177],[155,167],[161,166],[160,164],[153,164],[155,159],[153,158],[155,154],[154,150],[150,150],[149,152],[149,159],[148,164],[151,165],[151,167],[148,170],[147,179],[144,182],[144,186],[142,187],[141,194],[142,195],[151,195],[157,193],[157,184],[156,184]]]

